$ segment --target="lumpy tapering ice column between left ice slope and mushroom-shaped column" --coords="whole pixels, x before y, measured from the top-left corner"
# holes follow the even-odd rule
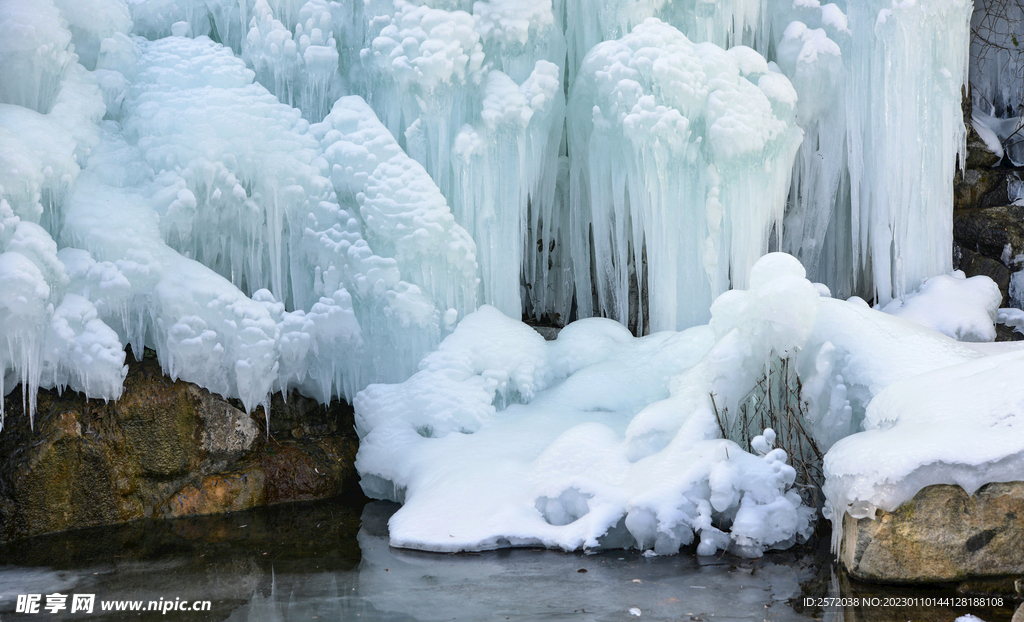
[[[535,315],[564,320],[568,216],[556,182],[565,56],[552,4],[445,8],[455,6],[367,6],[376,15],[361,52],[367,100],[476,241],[480,301],[518,316],[525,277]]]

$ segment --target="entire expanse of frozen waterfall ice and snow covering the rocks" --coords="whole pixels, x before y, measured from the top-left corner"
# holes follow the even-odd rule
[[[1019,473],[1020,357],[967,343],[998,293],[949,275],[970,9],[0,0],[0,388],[117,399],[131,344],[250,410],[353,399],[433,550],[799,540],[775,432],[716,415],[776,361],[834,520]]]

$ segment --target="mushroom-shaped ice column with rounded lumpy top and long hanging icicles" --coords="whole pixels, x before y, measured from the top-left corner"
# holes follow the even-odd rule
[[[642,331],[646,303],[650,330],[679,329],[744,287],[781,231],[796,103],[753,49],[694,44],[655,18],[595,46],[567,120],[581,315],[638,317]],[[579,295],[592,289],[596,307]]]

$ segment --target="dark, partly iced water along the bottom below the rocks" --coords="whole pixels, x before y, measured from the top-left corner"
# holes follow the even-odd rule
[[[0,620],[750,620],[951,622],[999,609],[805,609],[808,596],[935,596],[851,587],[821,551],[757,561],[637,552],[569,554],[516,549],[430,554],[387,544],[397,508],[326,501],[175,521],[141,521],[0,547]],[[69,594],[46,612],[46,594]],[[17,594],[42,594],[40,613],[15,613]],[[94,593],[91,614],[71,595]],[[947,590],[944,595],[955,595]],[[101,600],[210,600],[210,611],[100,611]],[[639,614],[639,617],[637,616]]]

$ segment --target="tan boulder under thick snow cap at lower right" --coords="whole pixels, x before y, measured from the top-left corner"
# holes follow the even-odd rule
[[[843,523],[840,561],[856,579],[951,583],[1024,575],[1024,482],[974,496],[930,486],[894,512]]]

